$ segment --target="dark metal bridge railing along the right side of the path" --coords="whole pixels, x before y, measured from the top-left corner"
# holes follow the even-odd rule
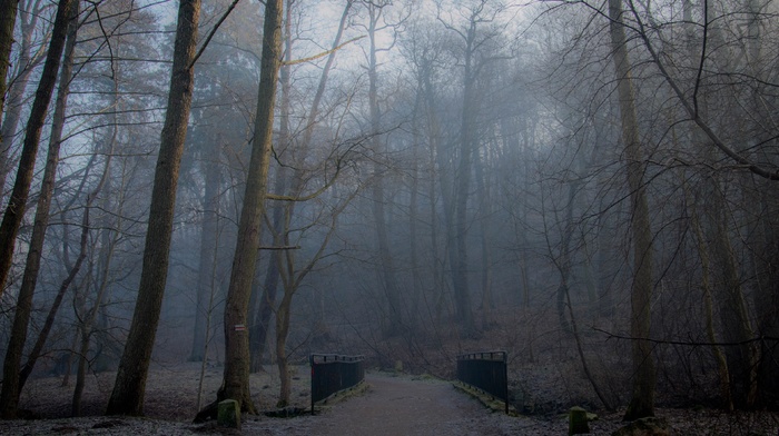
[[[503,399],[509,413],[509,361],[506,351],[479,351],[457,356],[457,379]]]

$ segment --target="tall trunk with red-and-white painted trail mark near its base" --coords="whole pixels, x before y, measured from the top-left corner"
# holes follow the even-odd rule
[[[265,212],[276,85],[282,63],[283,12],[283,0],[266,1],[252,158],[225,304],[225,373],[221,389],[217,394],[217,398],[238,400],[241,409],[249,413],[255,413],[255,406],[249,393],[249,337],[246,318],[257,265],[262,217]]]

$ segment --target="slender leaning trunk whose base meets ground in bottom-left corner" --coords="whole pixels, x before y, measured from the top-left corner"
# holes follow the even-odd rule
[[[72,77],[73,49],[76,47],[76,34],[78,31],[78,2],[71,8],[70,24],[68,28],[68,40],[65,48],[65,59],[60,71],[59,90],[55,103],[55,115],[49,137],[49,151],[43,169],[43,180],[41,182],[40,195],[38,196],[36,217],[32,225],[32,236],[30,237],[29,249],[27,251],[27,262],[22,275],[17,310],[13,317],[11,338],[8,343],[6,359],[3,363],[3,383],[0,393],[0,415],[3,418],[16,416],[19,405],[19,394],[21,392],[21,380],[19,371],[21,369],[21,358],[27,341],[27,328],[32,311],[32,297],[36,291],[38,272],[46,239],[46,229],[49,225],[49,210],[51,197],[55,192],[55,179],[57,176],[57,164],[59,162],[60,141],[62,139],[62,127],[65,126],[65,111],[68,106],[68,88]]]

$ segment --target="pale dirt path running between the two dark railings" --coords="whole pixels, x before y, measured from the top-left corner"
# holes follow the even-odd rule
[[[289,422],[283,426],[285,434],[504,435],[511,434],[507,427],[516,425],[447,382],[375,374],[365,380],[369,385],[366,393],[316,416]],[[249,426],[244,433],[252,433]]]

